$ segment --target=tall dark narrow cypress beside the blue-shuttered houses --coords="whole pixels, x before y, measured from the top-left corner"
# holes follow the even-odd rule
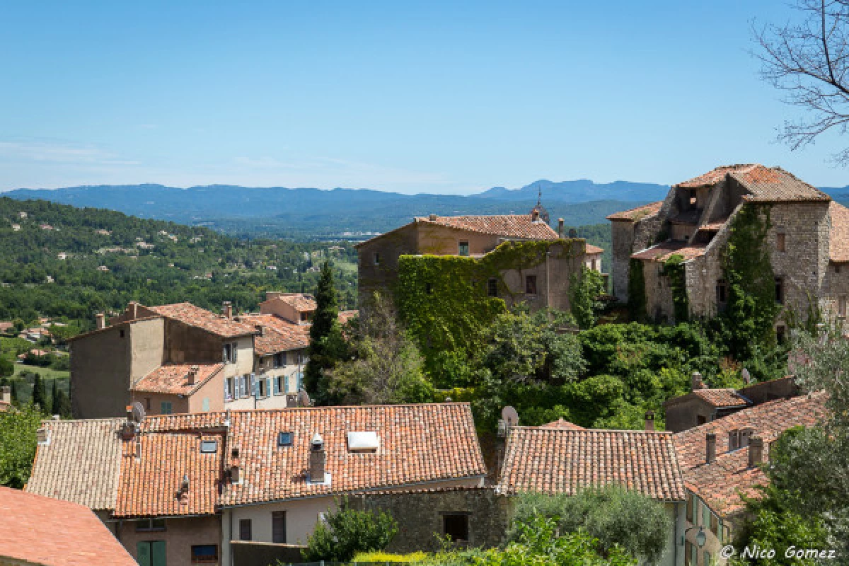
[[[310,328],[310,345],[306,350],[309,361],[304,372],[304,384],[317,404],[334,401],[329,393],[327,370],[346,357],[345,339],[339,325],[339,305],[333,283],[333,270],[325,261],[315,292],[316,311]]]

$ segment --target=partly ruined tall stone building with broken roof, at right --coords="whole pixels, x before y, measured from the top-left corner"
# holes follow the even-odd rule
[[[678,255],[689,316],[715,316],[728,300],[722,255],[732,224],[746,206],[768,213],[766,244],[775,299],[784,305],[776,326],[779,337],[790,311],[804,319],[818,307],[845,317],[849,210],[790,172],[763,165],[717,167],[673,185],[661,202],[608,216],[616,298],[632,299],[629,277],[638,261],[647,315],[658,322],[674,321],[673,283],[664,263]]]

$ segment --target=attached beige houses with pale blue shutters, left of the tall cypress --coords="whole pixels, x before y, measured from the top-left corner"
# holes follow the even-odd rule
[[[109,325],[98,315],[97,329],[69,340],[74,414],[115,417],[133,401],[148,414],[295,406],[315,304],[287,298],[284,314],[131,302]]]

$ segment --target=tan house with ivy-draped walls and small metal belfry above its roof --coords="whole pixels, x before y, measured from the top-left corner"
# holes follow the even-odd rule
[[[601,272],[601,253],[582,238],[564,238],[563,219],[555,232],[546,221],[548,213],[538,205],[526,215],[430,216],[357,244],[359,302],[375,291],[387,291],[398,276],[402,255],[453,255],[481,260],[505,242],[548,242],[539,258],[516,258],[486,281],[486,294],[508,305],[526,302],[532,309],[550,307],[569,310],[571,276],[582,266]]]

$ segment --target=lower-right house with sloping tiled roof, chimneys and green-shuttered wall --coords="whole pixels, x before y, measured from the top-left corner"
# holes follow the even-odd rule
[[[719,553],[745,518],[743,496],[766,485],[760,468],[769,446],[791,427],[811,427],[825,414],[823,391],[767,401],[673,436],[687,487],[685,564],[726,563]]]

